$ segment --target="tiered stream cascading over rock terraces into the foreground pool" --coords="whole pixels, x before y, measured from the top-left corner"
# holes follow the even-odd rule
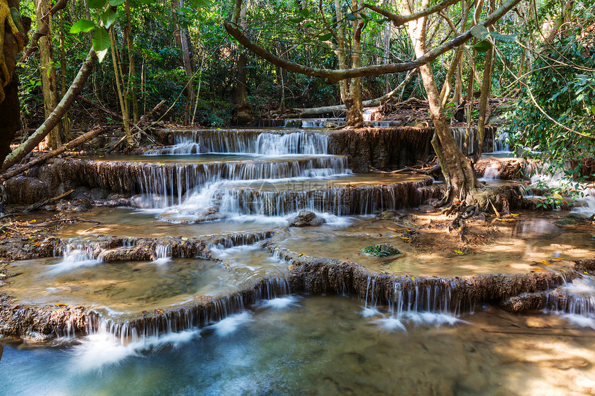
[[[348,159],[329,149],[329,134],[316,129],[341,121],[303,121],[306,129],[297,131],[180,131],[171,147],[147,155],[82,163],[83,172],[96,173],[111,189],[138,194],[132,207],[91,209],[85,218],[100,224],[64,227],[58,236],[70,239],[57,249],[61,257],[11,263],[7,271],[15,276],[1,292],[37,307],[84,305],[100,318],[86,324],[84,336],[2,341],[0,394],[595,391],[595,281],[587,274],[550,290],[544,312],[524,315],[460,301],[446,281],[395,282],[387,301],[374,297],[373,277],[362,299],[345,287],[343,296],[302,296],[289,290],[291,263],[278,251],[253,243],[260,238],[230,237],[273,230],[271,242],[281,249],[412,274],[412,281],[561,271],[569,260],[593,256],[588,225],[562,232],[552,224],[555,216],[511,224],[499,243],[464,252],[432,247],[431,238],[446,230],[430,233],[427,249],[413,249],[405,227],[371,215],[419,205],[419,189],[431,180],[354,174]],[[464,134],[453,133],[462,145]],[[324,225],[287,228],[302,209],[315,211]],[[403,213],[416,215],[421,226],[431,218]],[[95,234],[125,238],[120,247],[101,250]],[[104,261],[114,250],[136,249],[137,238],[163,236],[217,236],[221,243],[208,245],[210,259],[179,258],[162,240],[151,260]],[[391,243],[403,257],[360,252],[378,243]],[[241,290],[255,292],[244,299],[235,294]],[[189,308],[197,300],[210,303],[206,313]],[[134,321],[153,312],[162,315],[143,326]]]

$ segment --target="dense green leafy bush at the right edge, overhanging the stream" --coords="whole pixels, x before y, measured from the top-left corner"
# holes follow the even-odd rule
[[[533,176],[552,187],[550,205],[562,194],[581,194],[580,183],[595,178],[589,165],[595,154],[595,25],[592,12],[575,17],[543,46],[509,113],[510,143],[519,155],[540,160]]]

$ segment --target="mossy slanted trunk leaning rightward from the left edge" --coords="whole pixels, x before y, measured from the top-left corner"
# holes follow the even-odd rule
[[[15,151],[12,151],[12,153],[6,157],[0,170],[4,171],[25,158],[28,153],[37,147],[37,144],[44,140],[46,135],[50,133],[57,123],[62,120],[62,117],[84,87],[87,79],[89,79],[89,75],[91,74],[91,70],[93,70],[95,61],[97,61],[97,55],[95,55],[95,51],[91,49],[89,54],[86,55],[86,58],[84,59],[84,62],[73,83],[68,88],[68,91],[66,91],[66,95],[64,95],[62,100],[60,100],[58,106],[54,109],[54,111],[52,111],[50,116],[46,118],[44,123],[39,126],[39,128],[37,128],[33,135],[31,135],[25,142],[23,142],[23,144],[17,147]]]

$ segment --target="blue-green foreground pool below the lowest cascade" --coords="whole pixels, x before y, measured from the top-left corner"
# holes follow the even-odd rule
[[[7,344],[6,395],[587,395],[592,332],[495,308],[390,329],[360,301],[266,301],[201,330],[122,345],[106,334]],[[569,335],[562,335],[566,332]],[[8,364],[10,363],[10,364]]]

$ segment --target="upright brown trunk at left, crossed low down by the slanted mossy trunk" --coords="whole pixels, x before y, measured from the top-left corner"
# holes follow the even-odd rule
[[[39,57],[41,60],[42,92],[44,95],[44,109],[46,118],[57,106],[57,85],[56,69],[54,68],[54,55],[52,47],[52,19],[49,15],[46,21],[42,19],[49,11],[47,0],[37,0],[35,3],[35,14],[37,15],[37,30],[46,29],[47,35],[39,37],[37,44],[39,46]],[[56,125],[51,133],[47,135],[41,149],[56,149],[62,144],[60,139],[60,128]]]

